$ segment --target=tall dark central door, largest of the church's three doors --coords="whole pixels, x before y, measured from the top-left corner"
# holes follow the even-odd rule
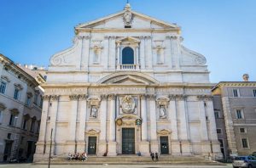
[[[135,154],[135,129],[122,129],[122,154]]]

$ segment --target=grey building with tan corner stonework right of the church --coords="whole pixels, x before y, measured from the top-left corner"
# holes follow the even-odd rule
[[[221,81],[213,87],[218,140],[224,157],[256,152],[256,82]]]

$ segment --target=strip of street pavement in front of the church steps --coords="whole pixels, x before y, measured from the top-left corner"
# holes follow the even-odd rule
[[[232,165],[50,165],[50,168],[231,168]],[[0,168],[48,168],[48,165],[2,164]]]

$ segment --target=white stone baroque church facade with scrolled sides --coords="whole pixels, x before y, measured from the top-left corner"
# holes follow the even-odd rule
[[[181,28],[127,3],[50,58],[35,160],[52,154],[221,157],[207,60]]]

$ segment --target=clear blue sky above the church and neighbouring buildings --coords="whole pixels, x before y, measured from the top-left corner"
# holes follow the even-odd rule
[[[0,0],[0,53],[47,66],[72,46],[73,27],[122,10],[126,0]],[[177,23],[183,45],[207,58],[212,82],[256,81],[255,0],[130,0],[137,12]]]

